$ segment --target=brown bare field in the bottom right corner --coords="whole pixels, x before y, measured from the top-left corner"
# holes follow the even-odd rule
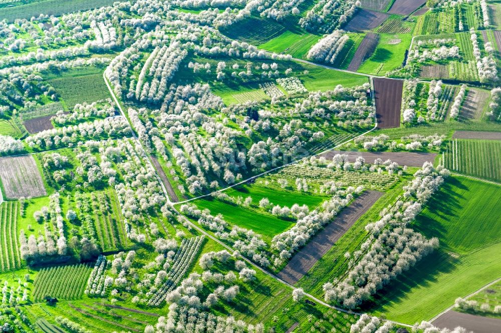
[[[475,333],[493,333],[501,331],[501,319],[482,317],[469,313],[449,310],[433,320],[433,325],[439,328],[454,329],[457,326]]]

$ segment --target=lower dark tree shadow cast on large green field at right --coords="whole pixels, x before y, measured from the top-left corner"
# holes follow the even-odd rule
[[[399,275],[383,289],[379,290],[371,302],[366,303],[364,310],[382,311],[385,305],[399,303],[415,287],[427,287],[436,282],[437,276],[450,273],[455,269],[459,259],[443,249],[438,249],[422,258],[413,268]]]

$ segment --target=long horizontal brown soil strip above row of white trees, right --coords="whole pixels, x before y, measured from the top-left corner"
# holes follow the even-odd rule
[[[369,151],[341,151],[331,150],[323,153],[321,156],[326,159],[332,159],[335,154],[348,155],[348,161],[354,162],[358,156],[365,158],[366,163],[374,163],[376,158],[381,158],[383,161],[391,159],[399,165],[407,166],[423,166],[424,162],[433,162],[436,157],[434,152],[369,152]]]

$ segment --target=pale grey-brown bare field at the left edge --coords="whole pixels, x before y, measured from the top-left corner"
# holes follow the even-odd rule
[[[47,194],[37,163],[31,155],[1,157],[0,180],[9,199]]]

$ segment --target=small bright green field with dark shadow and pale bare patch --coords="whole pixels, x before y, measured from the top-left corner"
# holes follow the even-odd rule
[[[412,35],[381,33],[379,43],[372,56],[358,69],[361,73],[384,75],[398,68],[404,60],[405,50],[409,48]],[[397,41],[400,42],[397,43]]]

